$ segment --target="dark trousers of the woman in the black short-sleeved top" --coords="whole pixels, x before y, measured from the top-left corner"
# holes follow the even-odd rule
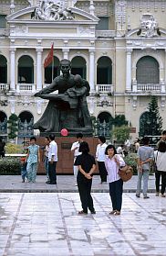
[[[90,212],[93,212],[95,210],[93,206],[93,199],[90,195],[91,184],[92,184],[92,180],[89,180],[89,181],[78,180],[78,193],[80,196],[82,209],[85,213],[88,213],[88,209],[90,210]]]

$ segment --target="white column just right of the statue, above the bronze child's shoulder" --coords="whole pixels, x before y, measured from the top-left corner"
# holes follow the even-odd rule
[[[95,91],[95,50],[89,51],[89,85],[90,91]]]

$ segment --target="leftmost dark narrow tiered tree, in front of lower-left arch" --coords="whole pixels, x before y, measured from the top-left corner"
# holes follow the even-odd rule
[[[9,133],[8,133],[8,138],[9,139],[15,139],[16,138],[16,132],[18,130],[18,117],[16,116],[16,114],[12,114],[7,123],[9,124],[8,125],[8,129],[9,129]]]

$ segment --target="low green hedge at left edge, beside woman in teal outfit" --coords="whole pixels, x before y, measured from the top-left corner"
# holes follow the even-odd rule
[[[0,175],[11,175],[21,173],[21,162],[19,158],[5,157],[0,159]]]

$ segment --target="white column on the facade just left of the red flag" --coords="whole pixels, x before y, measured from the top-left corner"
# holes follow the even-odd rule
[[[42,89],[42,49],[36,49],[36,91]]]

